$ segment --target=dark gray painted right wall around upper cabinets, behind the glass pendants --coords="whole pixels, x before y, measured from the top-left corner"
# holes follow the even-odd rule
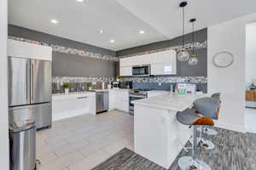
[[[207,40],[207,28],[195,32],[195,42],[203,42]],[[117,52],[117,56],[124,56],[128,54],[138,54],[154,49],[168,48],[180,45],[182,37],[176,37],[172,40],[163,42],[154,42],[139,46],[136,48],[127,48]],[[185,42],[191,42],[191,34],[185,36]],[[191,54],[192,51],[189,51]],[[195,54],[198,54],[198,65],[189,65],[188,62],[177,61],[177,75],[176,76],[207,76],[207,48],[196,49]]]

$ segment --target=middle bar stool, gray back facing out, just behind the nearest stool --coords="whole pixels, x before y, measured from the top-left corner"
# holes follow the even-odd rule
[[[218,113],[220,108],[221,101],[219,98],[213,98],[213,97],[206,97],[201,99],[196,99],[194,102],[193,110],[202,116],[207,116],[212,119],[217,120],[218,119]],[[203,133],[203,129],[209,129],[208,127],[200,127],[201,133]],[[200,133],[200,137],[197,139],[198,144],[207,150],[212,150],[215,145],[212,143],[212,141],[203,139],[202,135]],[[190,143],[192,141],[190,140]]]

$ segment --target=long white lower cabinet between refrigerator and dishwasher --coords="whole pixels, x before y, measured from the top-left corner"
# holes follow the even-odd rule
[[[96,114],[96,94],[68,94],[53,95],[52,121],[79,116]]]

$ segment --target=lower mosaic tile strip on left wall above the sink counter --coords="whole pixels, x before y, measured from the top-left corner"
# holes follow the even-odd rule
[[[52,82],[113,82],[114,77],[52,77]]]

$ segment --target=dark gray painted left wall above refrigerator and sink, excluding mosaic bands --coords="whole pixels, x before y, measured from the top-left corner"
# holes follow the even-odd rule
[[[98,48],[90,44],[55,37],[39,31],[9,25],[9,36],[24,37],[38,42],[60,45],[67,48],[87,50],[97,54],[116,56],[112,50]],[[53,76],[58,77],[114,77],[116,64],[113,61],[93,59],[75,54],[53,52]]]

